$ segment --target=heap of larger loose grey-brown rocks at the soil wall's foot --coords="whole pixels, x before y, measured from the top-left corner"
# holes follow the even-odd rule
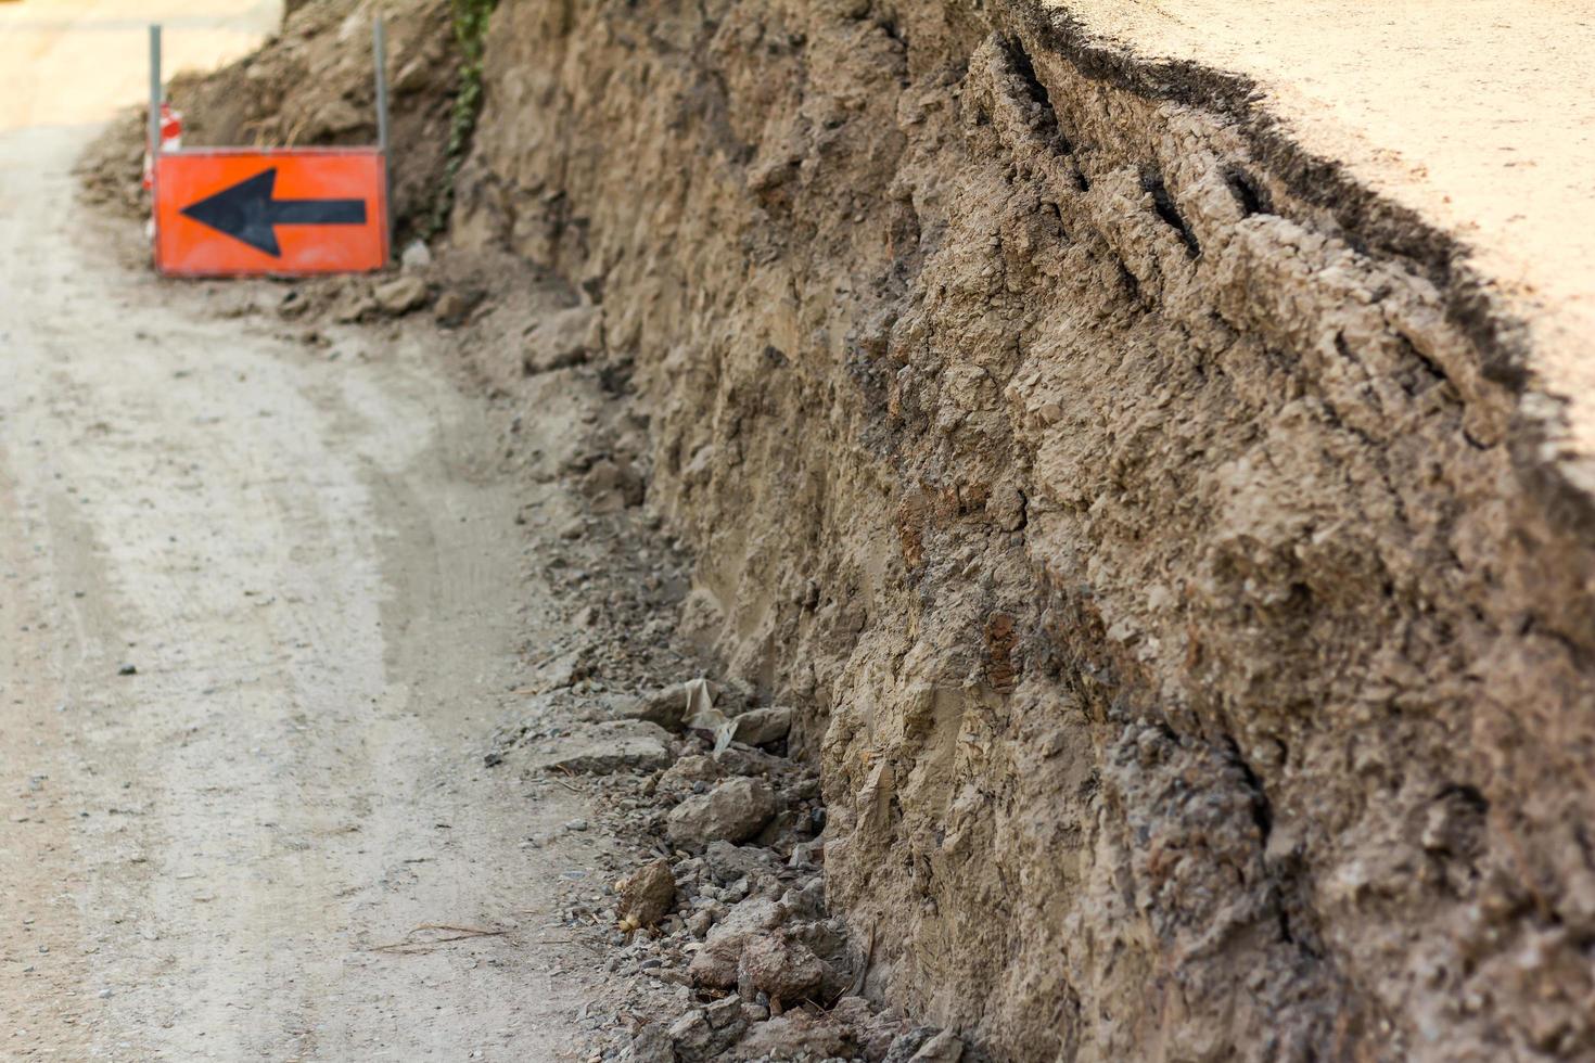
[[[871,950],[826,908],[825,806],[813,770],[786,755],[790,725],[790,709],[703,679],[640,696],[561,688],[488,752],[530,752],[528,776],[590,789],[605,827],[652,843],[603,907],[565,913],[603,928],[608,969],[636,983],[597,1058],[962,1057],[955,1034],[861,996]]]

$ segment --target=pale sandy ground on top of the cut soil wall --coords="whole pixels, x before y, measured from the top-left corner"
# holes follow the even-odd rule
[[[1249,75],[1309,151],[1456,233],[1595,456],[1595,10],[1585,0],[1038,0]]]

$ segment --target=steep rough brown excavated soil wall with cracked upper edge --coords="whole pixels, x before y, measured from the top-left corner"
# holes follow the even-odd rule
[[[601,308],[869,991],[998,1058],[1590,1058],[1590,520],[1458,249],[967,0],[502,0],[455,241]]]

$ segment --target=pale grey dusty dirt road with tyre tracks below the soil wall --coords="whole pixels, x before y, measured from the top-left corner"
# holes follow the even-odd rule
[[[483,413],[419,341],[219,319],[75,201],[148,21],[175,70],[276,18],[0,5],[0,1058],[563,1058],[584,843],[515,840],[585,810],[472,752],[539,623]],[[375,948],[423,924],[509,932]]]

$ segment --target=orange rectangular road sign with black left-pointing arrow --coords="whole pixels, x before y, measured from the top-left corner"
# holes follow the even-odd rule
[[[380,148],[201,148],[155,159],[163,274],[360,273],[386,263]]]

